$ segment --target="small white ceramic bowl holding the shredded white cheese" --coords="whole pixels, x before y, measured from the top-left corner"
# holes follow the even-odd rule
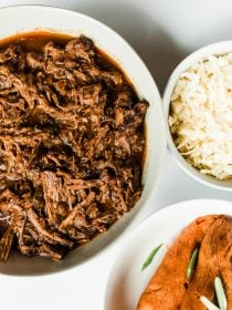
[[[178,152],[169,125],[168,125],[168,116],[169,116],[169,108],[170,108],[170,99],[173,92],[173,89],[179,80],[181,73],[187,71],[190,66],[192,66],[196,62],[200,60],[207,59],[209,55],[212,54],[226,54],[232,52],[232,41],[223,41],[219,43],[213,43],[211,45],[204,46],[189,56],[187,56],[172,72],[167,83],[162,102],[165,108],[165,117],[166,117],[166,131],[168,137],[168,147],[173,155],[177,164],[191,177],[194,179],[203,183],[204,185],[211,186],[213,188],[223,189],[223,190],[232,190],[232,179],[229,180],[219,180],[213,176],[203,175],[197,168],[192,167]]]

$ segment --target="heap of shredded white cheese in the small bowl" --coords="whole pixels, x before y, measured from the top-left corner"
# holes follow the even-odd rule
[[[219,179],[232,177],[232,53],[211,55],[180,75],[168,121],[192,166]]]

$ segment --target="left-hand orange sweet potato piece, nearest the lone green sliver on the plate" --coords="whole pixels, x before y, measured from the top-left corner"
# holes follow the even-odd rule
[[[191,255],[212,224],[221,216],[210,215],[196,219],[177,238],[166,254],[145,292],[137,310],[179,310],[189,280],[186,277]]]

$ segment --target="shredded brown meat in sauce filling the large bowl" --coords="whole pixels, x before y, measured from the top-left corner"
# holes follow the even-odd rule
[[[0,260],[59,260],[134,207],[147,107],[83,35],[0,41]]]

